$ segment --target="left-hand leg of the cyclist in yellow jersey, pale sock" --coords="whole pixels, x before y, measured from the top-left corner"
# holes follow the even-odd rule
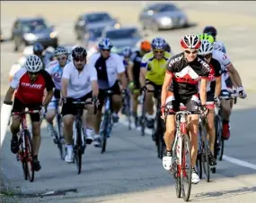
[[[154,91],[154,82],[146,80],[146,89]],[[146,125],[148,128],[153,128],[154,126],[154,92],[146,91],[145,106],[146,106]]]

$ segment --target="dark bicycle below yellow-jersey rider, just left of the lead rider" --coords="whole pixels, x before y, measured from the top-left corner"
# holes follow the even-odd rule
[[[157,147],[158,158],[163,158],[163,153],[165,152],[165,142],[163,140],[163,133],[165,131],[165,125],[163,119],[161,118],[161,89],[157,91],[157,102],[156,102],[156,114],[154,118],[154,127],[152,130],[152,138]]]

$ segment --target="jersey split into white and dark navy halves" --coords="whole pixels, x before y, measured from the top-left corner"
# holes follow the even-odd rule
[[[117,74],[125,72],[124,63],[118,54],[111,53],[110,57],[105,60],[100,53],[96,53],[91,56],[89,63],[97,71],[100,89],[112,87],[118,79]]]

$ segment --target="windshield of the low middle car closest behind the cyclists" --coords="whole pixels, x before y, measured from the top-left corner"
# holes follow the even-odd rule
[[[107,32],[106,38],[140,38],[140,34],[137,29],[110,30]]]

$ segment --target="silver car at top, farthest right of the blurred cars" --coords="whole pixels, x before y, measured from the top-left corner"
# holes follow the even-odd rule
[[[139,14],[143,30],[170,30],[187,27],[188,17],[175,4],[156,3],[150,4]]]

